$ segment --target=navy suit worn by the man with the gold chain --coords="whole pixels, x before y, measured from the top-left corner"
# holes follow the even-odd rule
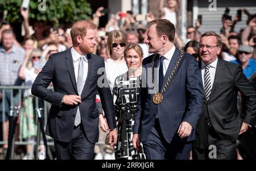
[[[163,86],[179,56],[180,52],[176,48],[164,76]],[[183,121],[191,124],[193,128],[196,127],[204,98],[200,69],[197,66],[195,57],[184,53],[184,59],[179,69],[172,78],[167,90],[163,93],[162,103],[155,105],[152,102],[154,94],[150,93],[152,85],[150,83],[150,72],[148,72],[151,68],[152,57],[153,55],[143,60],[143,68],[147,72],[143,70],[141,99],[138,101],[138,111],[135,114],[133,131],[141,135],[147,159],[163,159],[163,156],[165,156],[164,159],[188,158],[187,152],[185,154],[181,154],[181,152],[181,157],[177,157],[179,152],[175,152],[172,147],[177,149],[175,145],[180,145],[179,150],[182,151],[188,141],[195,139],[195,129],[185,139],[180,139],[177,135],[177,130]],[[155,59],[155,68],[159,66],[158,62],[159,55]],[[159,119],[155,119],[156,114],[158,114]],[[154,152],[148,154],[148,141],[157,141],[160,146],[162,144],[163,147],[160,147],[164,148],[164,151],[160,152],[162,155],[159,156]]]

